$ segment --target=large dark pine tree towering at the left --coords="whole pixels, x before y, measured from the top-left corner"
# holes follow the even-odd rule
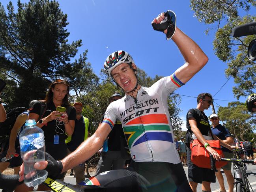
[[[9,97],[3,98],[9,108],[44,99],[50,82],[56,78],[69,80],[76,95],[91,91],[92,85],[98,83],[90,63],[86,63],[87,50],[70,62],[82,41],[67,43],[67,15],[58,2],[18,1],[16,12],[9,2],[7,11],[0,4],[0,73],[12,80],[12,92],[5,89],[3,93]]]

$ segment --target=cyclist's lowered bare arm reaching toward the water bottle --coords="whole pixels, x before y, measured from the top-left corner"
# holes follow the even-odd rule
[[[69,170],[92,157],[92,155],[101,148],[110,131],[111,128],[107,123],[101,123],[90,138],[82,142],[73,153],[70,153],[67,157],[61,160],[63,165],[62,172]]]

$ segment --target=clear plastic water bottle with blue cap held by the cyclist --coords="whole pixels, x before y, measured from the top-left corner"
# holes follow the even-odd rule
[[[20,136],[21,158],[24,162],[24,183],[27,186],[36,186],[43,183],[48,172],[36,170],[34,164],[45,160],[45,137],[43,130],[36,127],[34,119],[26,120],[25,129]]]

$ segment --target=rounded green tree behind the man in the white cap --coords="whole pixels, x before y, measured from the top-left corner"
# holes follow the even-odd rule
[[[249,113],[245,105],[240,102],[228,103],[227,107],[219,107],[218,116],[223,125],[230,130],[236,138],[251,140],[255,130],[255,114]]]

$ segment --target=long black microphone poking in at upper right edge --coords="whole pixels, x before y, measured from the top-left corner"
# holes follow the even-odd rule
[[[232,30],[233,37],[242,37],[256,34],[256,22],[250,22],[243,25],[236,26]]]

